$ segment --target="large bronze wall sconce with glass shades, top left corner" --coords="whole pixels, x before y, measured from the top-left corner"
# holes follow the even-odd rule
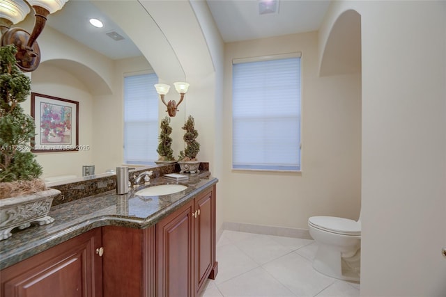
[[[31,35],[22,28],[10,28],[21,22],[29,13],[23,0],[0,0],[0,45],[17,47],[17,66],[24,72],[34,71],[40,63],[40,48],[36,42],[43,31],[47,15],[60,10],[68,0],[26,0],[34,9],[34,29]]]

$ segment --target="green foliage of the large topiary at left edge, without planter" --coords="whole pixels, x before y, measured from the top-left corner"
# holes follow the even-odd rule
[[[20,106],[31,91],[31,80],[15,65],[15,45],[0,47],[0,182],[29,180],[42,174],[31,145],[36,125]]]

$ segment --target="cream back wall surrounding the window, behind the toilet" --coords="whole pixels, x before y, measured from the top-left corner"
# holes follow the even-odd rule
[[[317,42],[312,32],[226,44],[224,221],[307,230],[309,216],[358,218],[361,77],[318,77]],[[231,60],[292,51],[302,52],[302,172],[231,170]]]

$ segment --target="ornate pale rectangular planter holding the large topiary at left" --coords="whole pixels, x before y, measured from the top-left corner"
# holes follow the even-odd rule
[[[54,222],[48,216],[54,197],[61,191],[49,188],[46,191],[20,195],[0,200],[0,240],[12,236],[11,230],[18,227],[25,229],[35,222],[46,225]]]

